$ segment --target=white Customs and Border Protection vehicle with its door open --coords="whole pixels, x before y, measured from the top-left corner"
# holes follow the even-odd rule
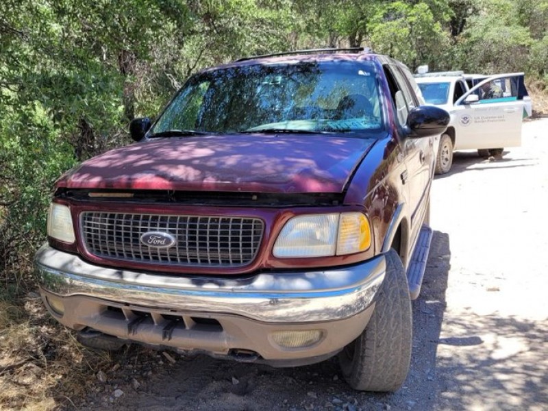
[[[532,112],[523,73],[466,75],[462,71],[416,75],[426,103],[451,114],[440,136],[436,174],[453,164],[453,150],[477,149],[482,157],[521,145],[521,123]]]

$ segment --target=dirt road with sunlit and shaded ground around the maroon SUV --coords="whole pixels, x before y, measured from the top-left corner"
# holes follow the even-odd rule
[[[523,147],[491,161],[459,153],[434,181],[434,240],[399,392],[356,393],[335,360],[271,369],[132,349],[79,408],[547,409],[548,119],[523,128]]]

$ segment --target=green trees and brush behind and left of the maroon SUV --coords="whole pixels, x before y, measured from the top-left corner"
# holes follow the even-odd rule
[[[40,369],[47,356],[82,359],[47,351],[71,334],[51,332],[58,326],[32,294],[32,256],[60,174],[127,144],[129,121],[158,113],[204,67],[349,46],[413,70],[525,71],[536,113],[548,113],[548,0],[0,1],[0,378],[29,358]],[[47,375],[32,395],[3,380],[0,408],[51,406],[64,388],[48,392],[56,377]]]

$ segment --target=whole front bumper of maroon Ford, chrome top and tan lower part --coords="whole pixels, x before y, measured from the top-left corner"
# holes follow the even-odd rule
[[[36,269],[42,299],[67,327],[182,353],[295,366],[334,356],[362,333],[386,262],[379,256],[344,269],[238,278],[162,275],[96,266],[44,246]],[[280,333],[291,342],[277,340]]]

